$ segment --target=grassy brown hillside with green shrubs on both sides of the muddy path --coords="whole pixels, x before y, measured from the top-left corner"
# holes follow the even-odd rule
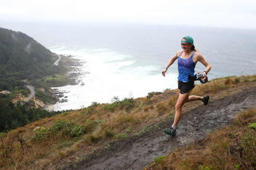
[[[201,96],[208,93],[213,96],[209,101],[212,102],[246,89],[252,83],[255,84],[255,81],[256,75],[217,78],[207,84],[196,85],[193,93],[196,92]],[[170,93],[174,95],[167,95]],[[60,169],[61,167],[58,166],[60,159],[66,164],[79,162],[88,154],[93,154],[95,149],[100,149],[102,146],[107,148],[107,144],[113,140],[140,135],[147,132],[147,125],[160,120],[164,121],[165,118],[173,118],[177,99],[177,89],[165,91],[161,98],[153,96],[151,99],[147,97],[133,99],[130,96],[119,99],[115,96],[112,98],[112,103],[92,102],[86,108],[66,110],[51,118],[38,120],[9,133],[2,133],[0,167],[1,169],[27,169],[27,167],[42,169],[46,164],[52,164],[52,169]],[[198,105],[201,105],[200,101],[184,105],[183,111]],[[241,113],[235,124],[221,132],[213,132],[203,144],[193,144],[193,147],[190,145],[173,151],[168,156],[160,156],[147,169],[215,169],[216,167],[221,169],[221,164],[217,164],[219,159],[227,162],[232,160],[232,163],[239,165],[241,159],[244,161],[243,157],[234,160],[229,158],[229,155],[221,153],[226,153],[229,149],[227,143],[231,140],[227,138],[232,138],[233,134],[236,134],[235,137],[240,145],[237,147],[247,145],[243,144],[243,141],[249,138],[254,142],[254,144],[249,143],[249,146],[255,146],[255,138],[252,136],[255,132],[250,128],[244,128],[249,125],[249,122],[255,122],[255,109]],[[38,126],[40,128],[37,129]],[[248,135],[240,135],[238,132],[241,130],[247,131],[248,133],[244,134]],[[215,149],[218,152],[212,154],[212,158],[207,157],[206,160],[205,154],[213,153]],[[249,151],[252,154],[242,154],[242,156],[255,158],[255,150],[249,149]],[[196,152],[199,154],[196,155]],[[175,158],[174,166],[173,157]],[[213,162],[210,162],[211,160]]]

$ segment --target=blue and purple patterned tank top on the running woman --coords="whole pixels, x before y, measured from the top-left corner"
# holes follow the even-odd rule
[[[181,58],[181,51],[180,55],[178,56],[178,80],[183,82],[188,82],[188,76],[194,76],[196,63],[193,61],[194,53],[189,58]]]

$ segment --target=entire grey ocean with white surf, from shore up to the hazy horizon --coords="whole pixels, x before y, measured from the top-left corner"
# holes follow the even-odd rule
[[[210,63],[208,78],[256,73],[256,30],[116,23],[1,23],[21,31],[56,54],[71,55],[78,85],[58,87],[67,102],[54,110],[79,109],[114,96],[145,97],[148,92],[177,88],[177,61],[162,76],[169,59],[181,50],[182,37]],[[205,67],[197,63],[195,71]]]

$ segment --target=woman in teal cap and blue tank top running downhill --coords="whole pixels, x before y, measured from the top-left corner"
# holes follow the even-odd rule
[[[181,110],[185,103],[192,101],[202,101],[204,105],[208,104],[209,95],[201,96],[189,96],[194,86],[194,73],[197,62],[201,62],[205,67],[205,71],[203,72],[203,76],[207,75],[210,71],[210,64],[204,59],[203,55],[199,54],[194,46],[194,40],[190,36],[183,37],[181,40],[182,50],[177,51],[176,54],[169,60],[167,65],[165,66],[162,75],[165,76],[165,72],[167,69],[174,63],[176,59],[178,59],[178,91],[179,97],[178,101],[175,105],[175,117],[173,126],[168,129],[164,129],[164,133],[167,135],[175,135],[176,126],[181,118]],[[206,78],[202,79],[203,81]]]

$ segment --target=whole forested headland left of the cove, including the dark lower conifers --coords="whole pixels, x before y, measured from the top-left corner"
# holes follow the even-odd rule
[[[72,64],[70,59],[63,56],[58,66],[53,65],[57,59],[58,55],[28,35],[0,28],[0,92],[11,92],[0,93],[0,132],[59,113],[43,110],[33,101],[56,101],[49,91],[50,86],[69,82],[65,73],[67,65]],[[19,96],[26,99],[30,94],[26,84],[35,86],[35,97],[29,102],[19,99]],[[37,89],[39,87],[45,91]],[[13,101],[15,98],[17,102]]]

